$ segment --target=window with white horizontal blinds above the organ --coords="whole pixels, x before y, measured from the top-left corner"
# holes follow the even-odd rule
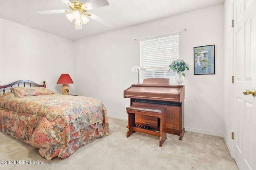
[[[159,77],[169,78],[170,84],[176,83],[176,72],[169,72],[169,65],[178,59],[178,53],[179,34],[140,41],[140,68],[146,69],[140,80]]]

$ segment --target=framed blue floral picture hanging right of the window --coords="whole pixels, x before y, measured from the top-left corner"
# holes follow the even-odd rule
[[[215,74],[215,44],[194,47],[194,75]]]

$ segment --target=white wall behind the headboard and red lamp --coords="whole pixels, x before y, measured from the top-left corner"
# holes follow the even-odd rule
[[[20,79],[46,81],[48,89],[62,93],[56,83],[62,73],[74,77],[73,57],[73,41],[0,18],[1,85]]]

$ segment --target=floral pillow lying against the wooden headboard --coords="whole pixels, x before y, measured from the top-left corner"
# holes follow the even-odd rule
[[[54,91],[44,87],[11,87],[10,90],[13,91],[17,97],[54,94]]]

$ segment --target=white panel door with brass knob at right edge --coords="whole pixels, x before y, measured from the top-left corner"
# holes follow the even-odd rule
[[[234,159],[240,170],[256,170],[256,0],[234,0]]]

